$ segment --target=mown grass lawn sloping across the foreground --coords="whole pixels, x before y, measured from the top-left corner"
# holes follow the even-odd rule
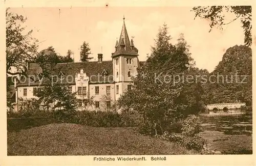
[[[175,143],[133,132],[131,128],[52,123],[8,130],[8,155],[160,155],[197,154]]]

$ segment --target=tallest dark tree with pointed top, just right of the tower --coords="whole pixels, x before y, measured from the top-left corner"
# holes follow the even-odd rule
[[[170,43],[167,29],[166,24],[160,28],[151,56],[132,78],[132,90],[118,100],[124,112],[138,115],[137,118],[141,119],[140,132],[146,134],[163,134],[168,123],[181,117],[175,99],[180,95],[183,84],[174,82],[169,76],[186,71],[189,57],[184,45],[176,47]]]

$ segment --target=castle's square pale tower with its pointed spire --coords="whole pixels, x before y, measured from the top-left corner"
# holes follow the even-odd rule
[[[138,49],[130,41],[126,30],[125,18],[119,41],[116,41],[115,52],[112,53],[113,76],[115,81],[116,99],[132,84],[131,77],[137,74]]]

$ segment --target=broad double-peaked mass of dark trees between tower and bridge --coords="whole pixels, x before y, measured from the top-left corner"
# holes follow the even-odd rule
[[[125,112],[140,118],[138,132],[144,134],[158,135],[164,131],[176,130],[174,124],[179,119],[199,112],[198,109],[193,112],[191,109],[200,104],[201,85],[175,82],[172,77],[166,79],[166,75],[182,77],[192,71],[203,72],[193,67],[189,45],[183,34],[178,43],[173,45],[167,29],[166,24],[160,28],[151,56],[132,78],[132,90],[118,100]]]

